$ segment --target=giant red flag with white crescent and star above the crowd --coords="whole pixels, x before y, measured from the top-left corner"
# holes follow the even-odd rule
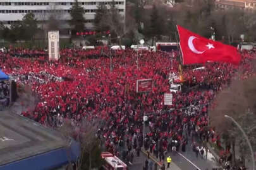
[[[229,62],[235,65],[240,63],[241,55],[235,47],[201,37],[179,25],[177,28],[180,35],[183,65],[213,61]]]

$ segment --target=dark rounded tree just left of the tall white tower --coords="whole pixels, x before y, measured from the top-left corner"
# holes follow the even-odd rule
[[[35,33],[37,33],[37,20],[33,13],[27,13],[21,21],[23,35],[25,40],[34,40]]]

